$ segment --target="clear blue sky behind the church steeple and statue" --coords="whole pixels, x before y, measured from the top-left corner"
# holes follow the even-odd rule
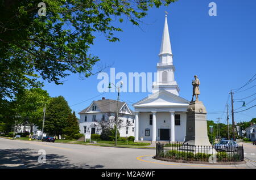
[[[217,4],[217,16],[208,15],[210,2]],[[255,74],[255,7],[254,0],[179,0],[168,7],[152,8],[146,18],[142,19],[144,23],[141,28],[126,19],[123,23],[114,23],[123,29],[123,32],[115,33],[121,39],[120,42],[106,41],[104,35],[96,33],[90,53],[100,57],[102,64],[114,63],[112,67],[116,73],[125,72],[128,75],[128,72],[156,72],[164,11],[167,11],[179,95],[191,100],[191,81],[193,75],[198,75],[201,82],[199,98],[207,108],[207,118],[216,122],[216,118],[220,117],[220,122],[226,123],[226,113],[221,112],[226,111],[226,102],[231,111],[230,96],[228,97],[230,89],[242,87]],[[110,74],[110,68],[105,72]],[[97,91],[97,84],[100,82],[97,75],[81,79],[78,74],[73,74],[63,80],[63,85],[45,82],[43,89],[52,97],[64,96],[76,113],[86,108],[92,100],[101,99],[101,93]],[[255,84],[256,81],[240,89],[242,92],[235,93],[234,99],[254,95]],[[250,87],[253,88],[246,90]],[[127,101],[133,109],[131,104],[147,95],[148,93],[121,93],[121,100]],[[98,97],[85,101],[95,96]],[[105,93],[102,96],[116,99],[117,92]],[[243,108],[242,102],[234,102],[234,109],[250,108],[255,105],[255,97],[254,95],[241,100],[246,102],[246,107]],[[78,114],[77,116],[79,117]],[[255,107],[235,113],[234,117],[236,122],[250,121],[256,117]]]

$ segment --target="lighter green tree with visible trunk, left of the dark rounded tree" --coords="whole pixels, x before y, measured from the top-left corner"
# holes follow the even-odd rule
[[[15,97],[16,109],[22,121],[21,124],[30,125],[30,134],[33,125],[39,125],[43,118],[43,108],[48,104],[50,97],[47,91],[41,88],[25,89]]]

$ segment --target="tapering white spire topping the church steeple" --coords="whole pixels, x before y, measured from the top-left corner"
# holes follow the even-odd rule
[[[167,15],[164,22],[164,30],[163,30],[163,36],[162,36],[162,44],[160,49],[160,54],[172,54],[171,49],[171,41],[169,36],[169,29],[168,29],[168,23],[167,23]]]

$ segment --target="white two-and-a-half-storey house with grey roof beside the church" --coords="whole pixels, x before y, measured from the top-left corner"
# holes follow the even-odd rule
[[[119,130],[121,137],[134,136],[134,124],[135,119],[133,112],[127,106],[126,102],[120,102],[117,100],[105,99],[93,101],[87,108],[82,110],[79,120],[80,133],[85,134],[101,134],[101,121],[108,121],[114,119],[117,114],[118,119],[122,121],[121,128]]]

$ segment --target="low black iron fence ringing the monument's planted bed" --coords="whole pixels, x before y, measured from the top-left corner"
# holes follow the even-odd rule
[[[239,162],[243,161],[243,146],[189,145],[180,142],[157,142],[156,157],[183,161]]]

